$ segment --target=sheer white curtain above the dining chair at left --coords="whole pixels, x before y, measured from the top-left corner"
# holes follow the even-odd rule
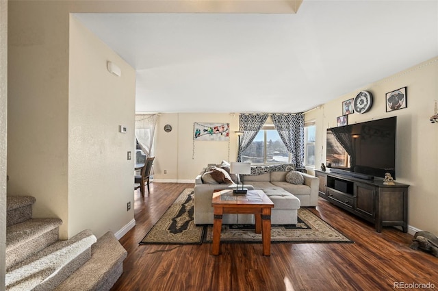
[[[153,157],[153,137],[158,114],[136,114],[136,140],[146,157]]]

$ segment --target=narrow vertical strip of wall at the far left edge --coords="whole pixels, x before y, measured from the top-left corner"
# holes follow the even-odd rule
[[[0,0],[0,257],[6,253],[6,127],[8,123],[8,1]],[[5,260],[0,260],[0,290],[5,286]]]

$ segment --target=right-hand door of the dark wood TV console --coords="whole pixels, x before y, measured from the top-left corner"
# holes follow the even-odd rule
[[[357,212],[376,217],[376,188],[370,185],[355,183],[355,209]]]

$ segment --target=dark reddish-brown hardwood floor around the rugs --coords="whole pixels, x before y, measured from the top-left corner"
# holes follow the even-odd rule
[[[140,245],[144,235],[185,188],[194,184],[151,184],[145,197],[135,192],[136,227],[120,243],[128,251],[115,290],[438,290],[438,258],[409,249],[412,236],[373,225],[320,199],[312,211],[354,244]],[[146,194],[147,195],[147,194]],[[426,284],[427,286],[408,284]],[[411,288],[409,288],[411,287]]]

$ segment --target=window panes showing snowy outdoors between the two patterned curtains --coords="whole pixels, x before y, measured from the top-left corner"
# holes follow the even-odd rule
[[[273,164],[290,162],[289,152],[273,125],[264,125],[242,153],[242,162]]]

